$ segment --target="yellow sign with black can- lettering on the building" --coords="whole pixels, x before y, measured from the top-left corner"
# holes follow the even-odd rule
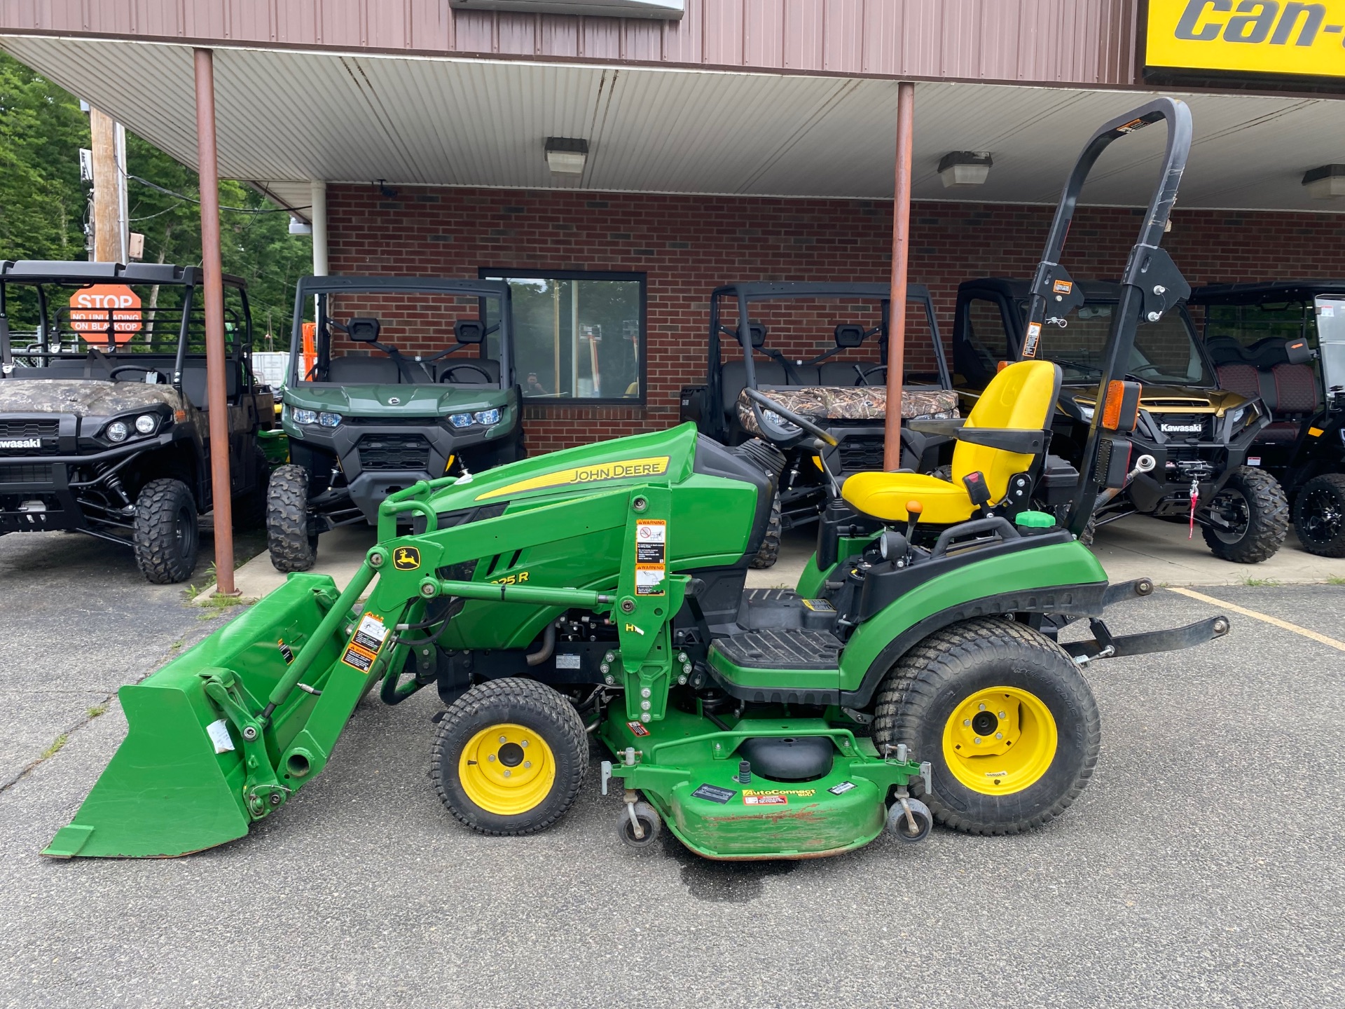
[[[1345,77],[1345,0],[1149,0],[1145,63]]]

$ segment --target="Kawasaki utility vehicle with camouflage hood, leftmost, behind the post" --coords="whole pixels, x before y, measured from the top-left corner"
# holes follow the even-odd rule
[[[191,577],[217,494],[204,339],[196,266],[0,262],[0,535],[85,533],[129,546],[149,581]],[[256,529],[274,409],[238,277],[225,340],[229,494],[234,525]]]

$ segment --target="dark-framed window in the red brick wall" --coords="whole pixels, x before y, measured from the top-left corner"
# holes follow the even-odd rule
[[[531,400],[644,401],[644,274],[488,270],[508,280],[514,361]]]

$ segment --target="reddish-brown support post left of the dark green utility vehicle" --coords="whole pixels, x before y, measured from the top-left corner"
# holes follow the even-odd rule
[[[210,483],[215,513],[215,595],[234,588],[233,502],[229,490],[229,401],[225,391],[225,285],[219,258],[219,161],[215,152],[215,65],[208,48],[196,63],[196,171],[200,180],[200,266],[206,307],[206,404],[210,417]]]

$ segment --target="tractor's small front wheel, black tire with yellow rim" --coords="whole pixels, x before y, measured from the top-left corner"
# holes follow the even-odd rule
[[[534,679],[477,683],[444,714],[430,778],[448,811],[495,837],[535,834],[566,814],[588,771],[574,706]]]

